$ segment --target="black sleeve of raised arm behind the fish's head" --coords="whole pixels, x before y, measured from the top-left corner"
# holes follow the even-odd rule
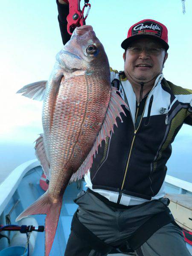
[[[67,15],[69,14],[69,5],[61,4],[56,0],[58,9],[58,22],[61,31],[61,38],[65,45],[71,38],[71,35],[67,32]]]

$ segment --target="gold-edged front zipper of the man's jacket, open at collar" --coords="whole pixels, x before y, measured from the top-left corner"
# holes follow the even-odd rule
[[[145,102],[145,107],[146,107],[146,103],[147,103],[147,100],[148,100],[148,96],[147,96],[147,99],[146,99],[146,102]],[[137,106],[139,106],[139,104]],[[119,197],[118,197],[118,200],[117,200],[117,204],[120,203],[120,200],[121,200],[121,197],[122,197],[123,187],[124,187],[124,184],[125,184],[125,178],[126,178],[127,171],[128,171],[128,165],[129,165],[129,161],[130,161],[130,157],[131,157],[132,148],[133,148],[133,145],[134,145],[134,140],[135,140],[137,131],[140,128],[140,124],[141,124],[141,121],[143,119],[143,115],[144,115],[144,112],[145,112],[145,107],[144,107],[144,110],[143,110],[143,113],[142,113],[142,116],[141,116],[140,123],[137,127],[137,130],[135,129],[135,131],[134,131],[134,137],[133,137],[133,140],[132,140],[132,143],[131,143],[131,148],[130,148],[130,151],[129,151],[128,161],[127,161],[127,165],[126,165],[126,168],[125,168],[125,174],[124,174],[124,177],[123,177],[122,186],[121,186],[121,190],[119,192]],[[137,114],[138,114],[138,109],[139,108],[137,108]],[[137,118],[137,114],[136,114],[136,118]],[[134,124],[134,128],[135,128],[135,124]]]

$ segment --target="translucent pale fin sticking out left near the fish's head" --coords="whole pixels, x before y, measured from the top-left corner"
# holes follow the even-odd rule
[[[46,84],[47,81],[38,81],[32,84],[27,84],[18,90],[17,93],[22,93],[23,96],[41,101],[44,99]]]

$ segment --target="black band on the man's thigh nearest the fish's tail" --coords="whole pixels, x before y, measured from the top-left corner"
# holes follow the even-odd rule
[[[73,215],[73,219],[71,222],[71,229],[79,236],[79,238],[89,245],[93,250],[96,250],[100,253],[109,253],[113,247],[109,244],[103,242],[99,237],[94,235],[87,227],[85,227],[77,218],[77,211]]]

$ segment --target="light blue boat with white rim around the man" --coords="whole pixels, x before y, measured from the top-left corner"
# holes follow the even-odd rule
[[[21,220],[19,223],[15,222],[15,218],[23,209],[26,209],[26,207],[44,194],[44,189],[46,189],[48,184],[42,173],[39,161],[34,159],[15,168],[0,183],[0,225],[44,225],[45,215],[34,215]],[[189,241],[189,235],[190,233],[192,234],[192,183],[170,175],[166,175],[165,181],[166,197],[170,199],[170,209],[177,223],[186,231],[186,241],[188,241],[186,244],[192,255],[192,245]],[[64,255],[70,235],[73,214],[78,207],[73,202],[73,199],[76,198],[76,195],[82,189],[87,189],[83,179],[67,186],[50,256]],[[0,239],[0,251],[9,246],[21,245],[26,247],[27,238],[25,234],[20,234],[18,231],[3,231],[0,234],[5,235],[5,237]],[[43,232],[36,232],[34,236],[29,238],[29,255],[44,256]],[[123,256],[125,254],[116,252],[110,255]],[[126,255],[135,254],[130,253]]]

